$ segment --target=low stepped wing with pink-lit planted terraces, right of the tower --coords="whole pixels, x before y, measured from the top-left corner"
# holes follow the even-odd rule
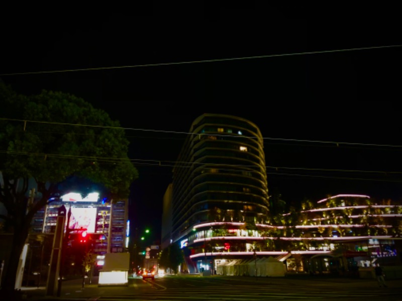
[[[294,266],[312,272],[330,272],[331,268],[350,272],[378,262],[402,265],[401,204],[374,201],[366,195],[342,194],[320,200],[315,206],[304,204],[298,220],[293,230],[288,229],[297,240],[282,239],[292,241],[293,247],[298,244],[302,251],[321,253],[293,256]]]

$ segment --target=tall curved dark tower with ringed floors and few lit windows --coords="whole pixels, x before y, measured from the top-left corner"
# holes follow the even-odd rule
[[[195,269],[212,268],[208,251],[247,251],[249,231],[265,223],[269,213],[263,138],[257,125],[223,114],[196,118],[173,169],[170,205],[170,231],[163,231],[170,237],[162,240],[181,243],[187,255],[204,253],[206,262],[194,259]],[[224,240],[206,243],[212,236],[233,236],[234,231],[244,233],[236,246]]]

